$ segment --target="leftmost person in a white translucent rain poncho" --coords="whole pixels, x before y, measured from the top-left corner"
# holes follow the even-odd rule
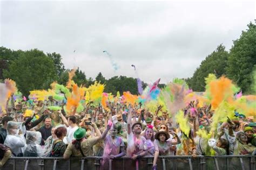
[[[22,123],[9,121],[6,127],[7,136],[4,145],[8,146],[15,157],[23,157],[26,140],[24,134],[19,129]]]

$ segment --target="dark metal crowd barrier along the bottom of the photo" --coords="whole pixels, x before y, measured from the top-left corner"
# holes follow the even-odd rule
[[[63,158],[39,158],[23,157],[10,158],[3,170],[16,169],[152,169],[153,157],[143,157],[139,160],[132,160],[129,157],[118,158],[114,160],[103,159],[102,157],[76,157],[64,160]],[[243,169],[255,170],[255,155],[226,155],[226,156],[165,156],[157,160],[157,169]]]

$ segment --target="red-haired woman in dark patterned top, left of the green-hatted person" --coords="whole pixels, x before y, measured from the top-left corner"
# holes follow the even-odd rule
[[[66,150],[66,144],[63,142],[64,137],[66,136],[66,127],[65,125],[59,125],[56,127],[54,133],[57,137],[53,141],[51,157],[63,157],[63,154]]]

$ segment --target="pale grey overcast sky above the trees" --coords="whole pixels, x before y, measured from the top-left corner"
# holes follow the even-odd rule
[[[165,83],[191,77],[221,43],[230,49],[254,23],[255,8],[255,1],[1,1],[0,46],[59,53],[66,68],[93,79],[102,72]]]

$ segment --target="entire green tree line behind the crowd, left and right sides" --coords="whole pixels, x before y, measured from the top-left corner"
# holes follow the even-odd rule
[[[256,72],[256,25],[248,24],[248,29],[242,31],[239,39],[233,41],[230,51],[226,51],[225,46],[220,44],[215,51],[206,56],[200,66],[196,69],[192,77],[186,80],[188,86],[193,91],[205,90],[205,77],[213,73],[217,77],[227,76],[242,89],[244,93],[255,94],[255,82],[253,77]],[[53,81],[59,84],[66,84],[69,79],[69,69],[66,69],[62,56],[58,53],[44,53],[39,49],[29,51],[11,50],[0,47],[0,80],[10,78],[17,84],[17,88],[25,96],[31,90],[50,88]],[[79,68],[73,77],[79,86],[89,87],[95,81],[105,84],[105,92],[120,94],[123,91],[130,91],[138,94],[137,80],[132,77],[114,76],[105,79],[99,73],[95,80],[87,78],[85,72]],[[171,81],[171,80],[170,80]],[[147,86],[143,82],[143,88]],[[159,84],[164,87],[165,84]]]

